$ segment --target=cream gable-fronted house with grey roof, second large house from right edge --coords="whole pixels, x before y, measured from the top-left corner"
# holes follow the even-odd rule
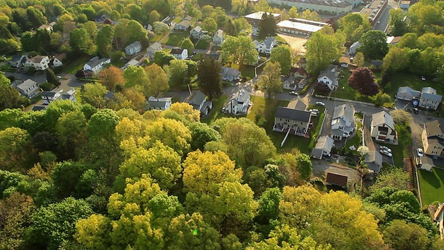
[[[370,135],[378,142],[393,142],[396,139],[393,117],[385,111],[373,114]]]

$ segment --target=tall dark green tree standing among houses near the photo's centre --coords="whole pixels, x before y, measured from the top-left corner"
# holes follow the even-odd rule
[[[222,94],[221,65],[214,58],[205,57],[198,63],[198,85],[210,100]]]

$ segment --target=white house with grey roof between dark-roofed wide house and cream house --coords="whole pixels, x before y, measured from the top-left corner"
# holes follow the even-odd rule
[[[346,103],[334,108],[332,117],[332,138],[342,140],[355,132],[355,108]]]

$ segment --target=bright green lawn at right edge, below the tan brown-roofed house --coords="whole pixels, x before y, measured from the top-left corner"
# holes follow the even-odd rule
[[[422,204],[444,202],[444,169],[432,168],[433,172],[418,170]]]

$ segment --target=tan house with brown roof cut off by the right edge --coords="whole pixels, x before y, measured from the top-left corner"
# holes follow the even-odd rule
[[[424,124],[421,134],[424,153],[434,157],[444,157],[444,129],[438,119]]]

